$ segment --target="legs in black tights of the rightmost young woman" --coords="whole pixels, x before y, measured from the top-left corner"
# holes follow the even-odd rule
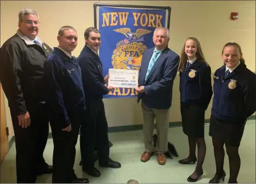
[[[216,163],[216,175],[221,177],[223,175],[223,165],[224,165],[224,142],[223,140],[213,138],[212,139],[214,153],[215,153],[215,163]],[[240,171],[241,160],[238,153],[239,147],[226,145],[226,152],[229,156],[229,169],[230,169],[230,178],[229,183],[236,183],[237,176]]]

